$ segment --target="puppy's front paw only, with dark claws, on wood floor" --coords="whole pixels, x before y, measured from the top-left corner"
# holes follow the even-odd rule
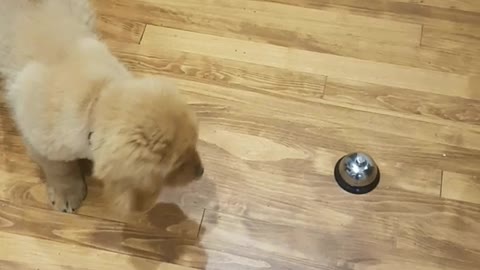
[[[87,186],[83,181],[71,183],[69,186],[48,185],[47,191],[53,208],[65,213],[75,212],[87,196]]]

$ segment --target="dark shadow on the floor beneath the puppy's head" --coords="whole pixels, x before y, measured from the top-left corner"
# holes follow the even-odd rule
[[[87,177],[91,175],[91,162],[82,160],[80,166]],[[89,196],[96,201],[102,185],[95,180],[89,180],[88,185]],[[200,244],[205,233],[199,224],[202,210],[198,213],[193,219],[176,203],[160,202],[141,221],[125,220],[115,228],[99,227],[92,237],[112,252],[131,255],[131,266],[126,269],[168,269],[164,263],[206,269],[207,252]]]

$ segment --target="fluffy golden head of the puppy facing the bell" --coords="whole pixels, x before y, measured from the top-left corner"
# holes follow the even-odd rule
[[[196,118],[172,84],[157,78],[111,83],[93,111],[94,176],[116,210],[148,211],[163,186],[203,175],[197,139]]]

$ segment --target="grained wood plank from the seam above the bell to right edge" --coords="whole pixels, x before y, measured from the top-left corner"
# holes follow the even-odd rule
[[[324,99],[368,110],[398,112],[425,117],[445,125],[480,125],[480,101],[428,94],[359,81],[328,78]],[[442,122],[441,120],[449,120]]]

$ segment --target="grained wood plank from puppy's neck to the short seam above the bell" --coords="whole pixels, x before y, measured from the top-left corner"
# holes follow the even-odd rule
[[[176,50],[162,49],[158,53],[149,53],[143,45],[108,44],[115,55],[137,73],[179,75],[209,84],[228,85],[309,103],[320,102],[323,96],[326,77],[322,75]]]

